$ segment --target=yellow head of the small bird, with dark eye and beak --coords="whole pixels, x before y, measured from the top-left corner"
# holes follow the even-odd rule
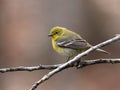
[[[53,27],[50,30],[50,33],[48,34],[48,36],[52,37],[55,40],[55,39],[59,38],[60,36],[62,36],[64,34],[65,29],[66,28],[59,27],[59,26]]]

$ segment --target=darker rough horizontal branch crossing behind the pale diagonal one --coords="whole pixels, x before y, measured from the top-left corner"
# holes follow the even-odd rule
[[[94,64],[101,64],[101,63],[120,63],[120,58],[110,58],[110,59],[95,59],[95,60],[84,60],[80,62],[78,65],[78,68],[82,68],[88,65],[94,65]],[[25,66],[19,66],[19,67],[11,67],[11,68],[1,68],[0,73],[6,73],[6,72],[16,72],[16,71],[35,71],[35,70],[52,70],[58,68],[62,64],[56,64],[56,65],[39,65],[39,66],[31,66],[31,67],[25,67]],[[69,67],[76,67],[76,65],[69,65],[66,68]]]

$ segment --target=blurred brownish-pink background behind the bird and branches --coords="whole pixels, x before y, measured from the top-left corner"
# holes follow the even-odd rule
[[[0,0],[0,68],[58,64],[48,38],[54,26],[79,33],[93,45],[120,33],[120,0]],[[120,42],[84,59],[119,58]],[[49,70],[0,73],[0,90],[28,90]],[[36,90],[120,90],[120,64],[66,69]]]

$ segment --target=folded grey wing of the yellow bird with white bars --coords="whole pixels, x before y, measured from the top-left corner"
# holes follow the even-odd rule
[[[65,41],[57,41],[57,45],[59,47],[63,48],[71,48],[71,49],[87,49],[90,48],[91,45],[84,39],[78,38],[78,39],[71,39],[71,40],[65,40]]]

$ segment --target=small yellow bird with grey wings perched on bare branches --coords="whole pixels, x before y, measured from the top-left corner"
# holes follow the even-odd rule
[[[60,55],[66,56],[68,60],[92,47],[79,34],[64,27],[53,27],[48,36],[52,38],[53,49]],[[109,54],[102,49],[96,49],[96,51]]]

